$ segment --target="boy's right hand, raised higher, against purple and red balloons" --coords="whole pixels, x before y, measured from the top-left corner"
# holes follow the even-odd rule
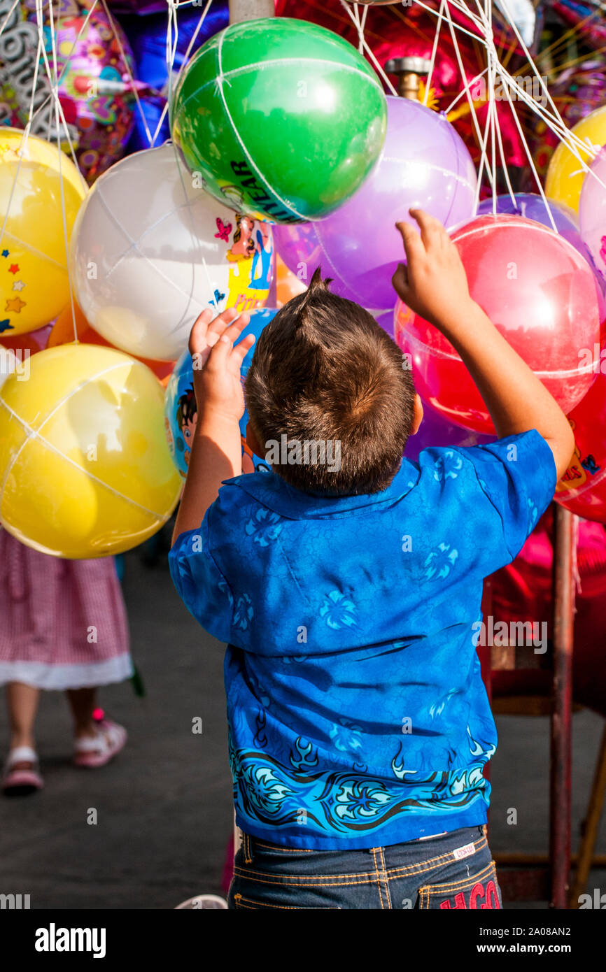
[[[411,310],[442,330],[452,321],[453,313],[465,312],[473,304],[465,267],[439,220],[422,209],[410,209],[410,216],[421,235],[410,223],[396,223],[408,265],[399,264],[392,283]]]

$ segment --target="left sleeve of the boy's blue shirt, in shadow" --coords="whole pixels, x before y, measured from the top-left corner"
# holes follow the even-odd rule
[[[229,642],[233,596],[212,554],[213,503],[201,526],[181,534],[168,554],[170,575],[186,608],[209,634]]]

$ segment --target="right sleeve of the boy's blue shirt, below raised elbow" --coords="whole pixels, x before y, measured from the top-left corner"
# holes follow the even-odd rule
[[[456,451],[473,465],[479,489],[500,517],[507,552],[514,560],[553,500],[556,472],[550,446],[531,429]]]

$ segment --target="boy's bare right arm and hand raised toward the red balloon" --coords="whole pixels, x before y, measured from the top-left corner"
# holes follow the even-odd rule
[[[536,429],[552,449],[559,479],[575,447],[568,419],[470,296],[465,268],[444,226],[419,209],[411,209],[410,216],[421,235],[408,223],[396,224],[408,262],[394,274],[396,293],[459,353],[499,438]]]

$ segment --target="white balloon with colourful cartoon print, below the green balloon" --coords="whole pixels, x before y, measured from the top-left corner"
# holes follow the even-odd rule
[[[76,298],[107,341],[173,361],[207,307],[261,307],[273,275],[267,223],[195,187],[170,144],[127,156],[95,182],[71,241]]]

